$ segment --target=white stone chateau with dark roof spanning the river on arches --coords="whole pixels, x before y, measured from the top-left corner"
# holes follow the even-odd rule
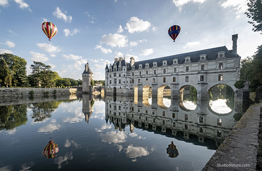
[[[105,68],[105,92],[133,95],[137,91],[142,96],[152,88],[152,96],[161,96],[169,86],[171,97],[178,98],[185,87],[192,85],[197,98],[208,99],[209,91],[219,84],[236,91],[233,84],[240,78],[237,39],[238,34],[232,35],[233,50],[221,46],[138,62],[131,57],[130,63],[122,57],[115,59]]]

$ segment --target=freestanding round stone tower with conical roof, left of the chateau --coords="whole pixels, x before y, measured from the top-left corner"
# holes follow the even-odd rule
[[[90,86],[91,86],[91,80],[93,80],[93,72],[89,68],[89,64],[85,65],[85,70],[82,73],[82,92],[83,93],[90,93]]]

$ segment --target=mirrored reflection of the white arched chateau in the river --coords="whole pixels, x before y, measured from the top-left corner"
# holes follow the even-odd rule
[[[114,96],[105,96],[105,117],[109,118],[115,129],[124,129],[132,124],[157,134],[174,136],[178,140],[199,145],[204,143],[202,145],[209,148],[219,146],[236,124],[235,108],[228,114],[217,114],[210,110],[209,100],[198,100],[196,109],[192,111],[174,98],[171,98],[169,108],[159,106],[162,104],[160,101],[152,97],[152,104],[149,105],[143,97],[134,100],[118,96],[116,100]]]

